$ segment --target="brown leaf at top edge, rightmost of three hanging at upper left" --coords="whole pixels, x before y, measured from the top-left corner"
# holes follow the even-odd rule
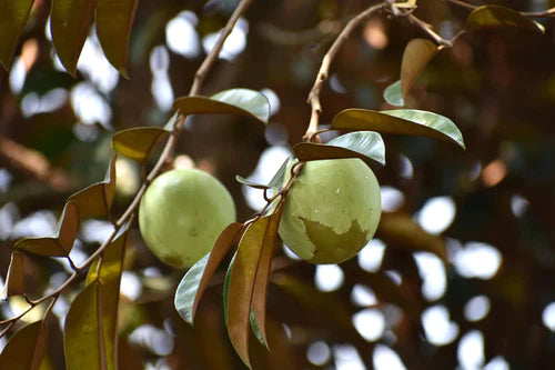
[[[110,63],[124,78],[128,43],[139,0],[97,0],[97,34]]]

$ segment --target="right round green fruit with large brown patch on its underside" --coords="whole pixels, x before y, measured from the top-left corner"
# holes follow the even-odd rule
[[[340,263],[372,239],[381,212],[380,184],[362,160],[310,161],[291,187],[279,232],[303,260]]]

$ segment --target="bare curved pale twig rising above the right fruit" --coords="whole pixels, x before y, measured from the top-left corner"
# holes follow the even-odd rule
[[[361,12],[359,16],[351,19],[346,23],[345,28],[337,36],[337,38],[335,39],[335,41],[333,42],[333,44],[331,46],[330,50],[326,52],[324,58],[322,59],[322,64],[321,64],[320,70],[317,72],[316,80],[314,81],[314,86],[312,87],[312,90],[309,93],[309,99],[306,100],[306,102],[312,108],[312,113],[311,113],[311,120],[309,123],[309,129],[306,130],[306,133],[304,134],[304,138],[303,138],[304,140],[307,140],[307,138],[310,138],[313,132],[317,131],[320,113],[322,112],[322,104],[320,103],[320,92],[322,91],[322,87],[323,87],[324,82],[327,80],[329,72],[330,72],[330,64],[332,63],[333,59],[337,54],[341,46],[345,42],[345,40],[351,34],[351,32],[357,26],[360,26],[364,20],[366,20],[371,16],[373,16],[374,12],[385,8],[386,6],[387,6],[387,2],[385,2],[385,1],[381,2],[379,4],[370,7],[369,9]]]

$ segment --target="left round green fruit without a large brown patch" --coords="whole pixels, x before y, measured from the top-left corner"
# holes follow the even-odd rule
[[[139,208],[139,228],[149,249],[164,263],[180,269],[206,254],[233,221],[235,206],[225,187],[195,169],[159,176]]]

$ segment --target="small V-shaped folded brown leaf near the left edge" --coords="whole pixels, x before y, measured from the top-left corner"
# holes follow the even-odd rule
[[[54,234],[49,238],[26,238],[19,240],[14,247],[27,252],[65,257],[70,253],[79,231],[79,210],[75,202],[69,200],[63,208],[62,216],[58,221]]]

